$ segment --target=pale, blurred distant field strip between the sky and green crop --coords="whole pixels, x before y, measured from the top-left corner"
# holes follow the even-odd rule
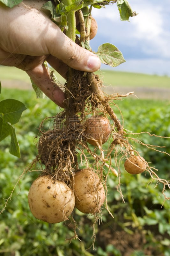
[[[140,99],[169,99],[170,77],[168,76],[110,70],[98,71],[96,74],[102,78],[105,86],[104,91],[108,94],[134,92]],[[64,79],[59,74],[56,75],[59,81],[64,84]],[[8,88],[32,89],[28,75],[18,68],[0,66],[0,79],[1,83]]]

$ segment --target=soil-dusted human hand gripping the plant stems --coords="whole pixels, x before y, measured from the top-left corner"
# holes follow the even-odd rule
[[[63,107],[64,92],[52,81],[44,61],[64,77],[68,66],[93,72],[100,68],[100,60],[40,11],[45,2],[25,0],[12,9],[0,5],[0,65],[25,70],[42,92]]]

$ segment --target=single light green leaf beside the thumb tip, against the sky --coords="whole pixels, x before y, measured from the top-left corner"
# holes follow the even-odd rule
[[[102,63],[111,67],[117,67],[125,62],[122,52],[113,44],[106,43],[100,45],[96,54]]]

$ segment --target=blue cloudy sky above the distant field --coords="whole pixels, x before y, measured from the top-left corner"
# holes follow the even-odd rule
[[[170,76],[170,0],[129,0],[138,13],[129,21],[121,21],[116,4],[93,8],[98,24],[97,35],[91,40],[92,50],[104,43],[114,44],[123,54],[125,63],[111,68],[145,74]],[[103,69],[110,69],[102,65]]]

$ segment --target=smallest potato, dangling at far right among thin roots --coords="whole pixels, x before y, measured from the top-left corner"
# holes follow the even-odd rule
[[[124,168],[130,174],[138,174],[146,170],[147,164],[142,156],[130,156],[124,163]]]

